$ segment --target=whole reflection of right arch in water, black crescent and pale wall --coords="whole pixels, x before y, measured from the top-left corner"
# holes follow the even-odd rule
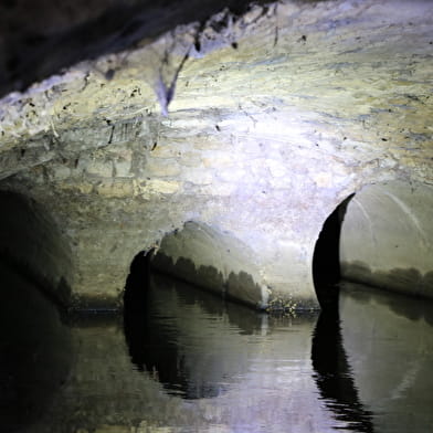
[[[345,430],[403,433],[433,425],[433,303],[341,283],[311,347],[320,397]]]

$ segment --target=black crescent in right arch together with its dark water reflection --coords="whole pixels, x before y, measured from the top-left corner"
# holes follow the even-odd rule
[[[311,362],[315,381],[326,406],[347,430],[371,433],[373,413],[359,397],[346,353],[339,315],[340,234],[347,207],[355,194],[344,200],[326,219],[313,255],[313,279],[320,307],[313,334]]]

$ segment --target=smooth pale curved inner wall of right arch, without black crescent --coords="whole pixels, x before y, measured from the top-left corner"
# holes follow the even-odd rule
[[[368,186],[349,202],[340,237],[346,278],[433,296],[433,188]]]

